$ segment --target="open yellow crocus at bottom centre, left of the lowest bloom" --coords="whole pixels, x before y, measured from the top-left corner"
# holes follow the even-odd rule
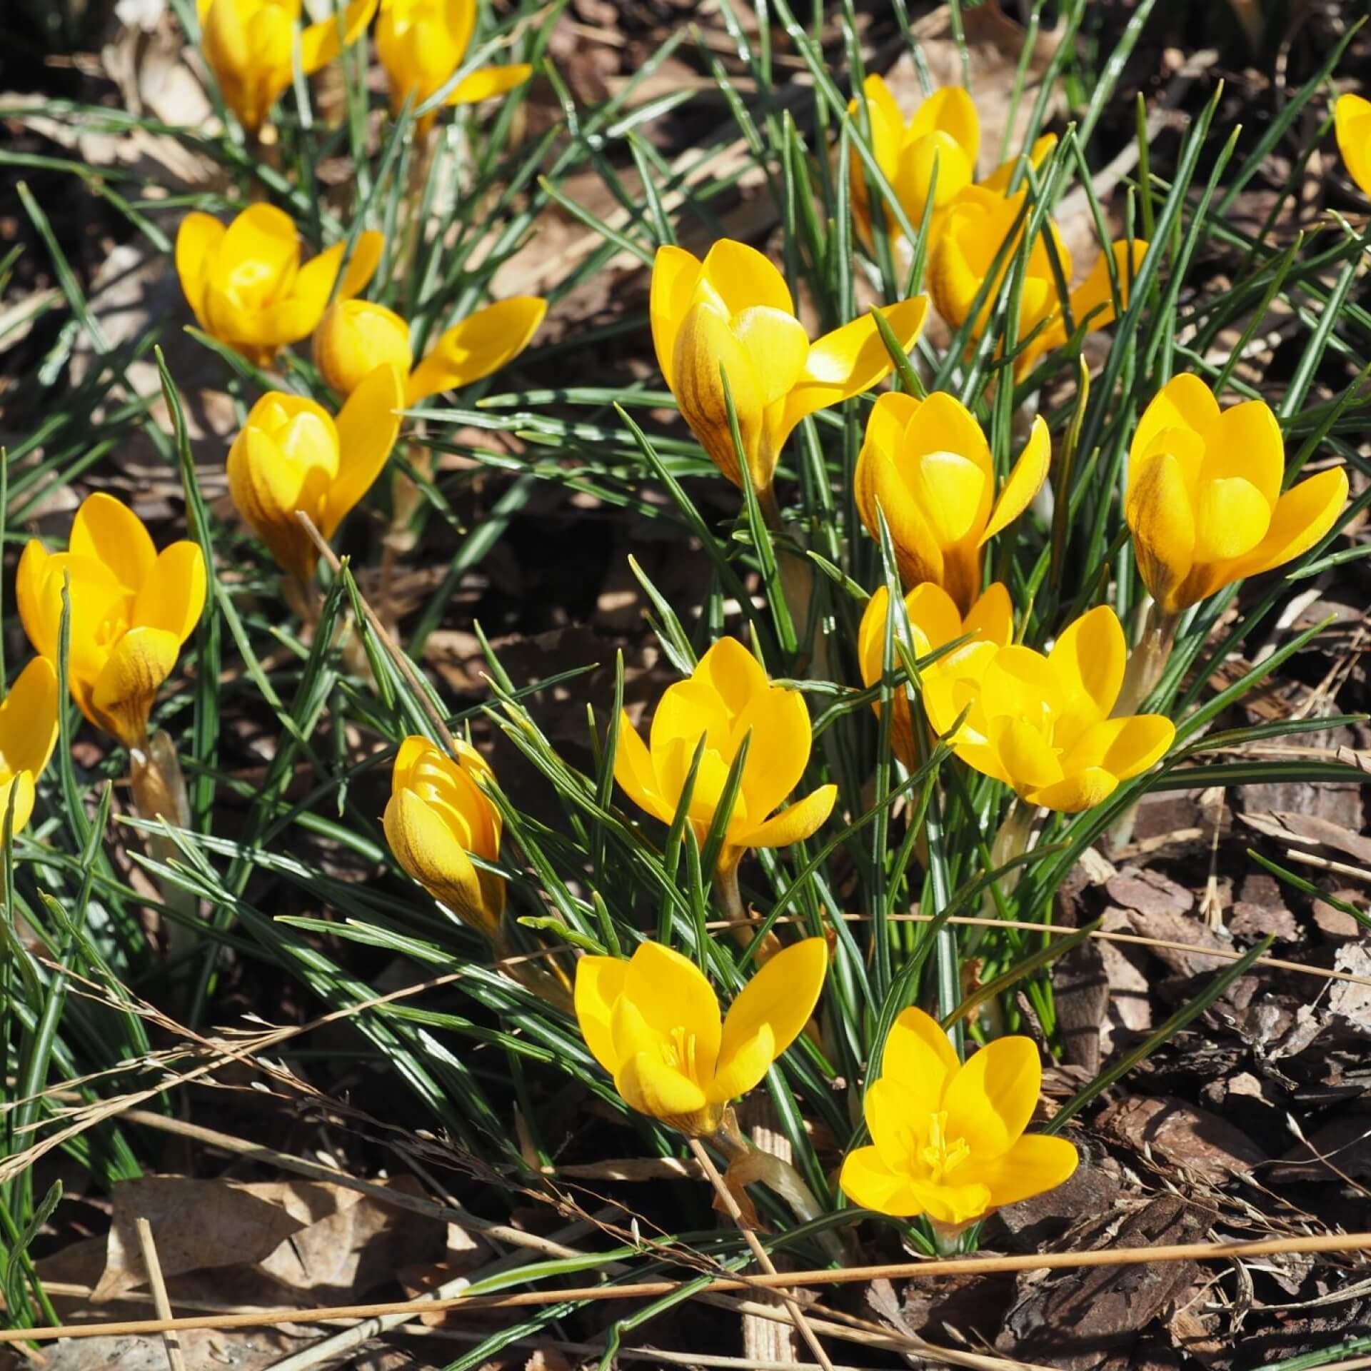
[[[639,1113],[707,1138],[795,1041],[818,1004],[828,945],[776,953],[720,1021],[718,998],[679,951],[643,942],[633,956],[581,957],[576,1019],[585,1046]]]

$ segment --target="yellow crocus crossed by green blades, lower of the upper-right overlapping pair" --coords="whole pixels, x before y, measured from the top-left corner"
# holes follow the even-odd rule
[[[1006,181],[1008,184],[1008,181]],[[960,328],[971,318],[972,304],[982,282],[990,276],[1001,247],[1013,240],[1013,248],[1005,255],[994,285],[990,288],[980,313],[972,324],[972,336],[980,337],[995,308],[999,291],[1013,263],[1015,252],[1023,239],[1028,214],[1026,211],[1027,191],[1005,195],[1004,191],[988,186],[968,186],[954,204],[949,206],[946,219],[928,260],[928,291],[938,313]],[[1023,222],[1019,221],[1024,215]],[[1046,236],[1057,250],[1061,274],[1071,281],[1071,254],[1049,219],[1046,230],[1034,239],[1028,250],[1024,269],[1023,293],[1019,299],[1019,332],[1016,341],[1023,343],[1030,333],[1042,325],[1015,359],[1015,377],[1026,376],[1045,352],[1065,344],[1069,337],[1067,318],[1061,306],[1061,292],[1052,270]],[[1148,244],[1134,240],[1131,244],[1119,241],[1111,245],[1115,270],[1119,277],[1120,304],[1128,304],[1128,288],[1142,263]],[[1071,306],[1071,326],[1079,328],[1089,319],[1090,329],[1102,329],[1115,319],[1113,292],[1109,284],[1109,262],[1101,255],[1090,274],[1068,298]]]

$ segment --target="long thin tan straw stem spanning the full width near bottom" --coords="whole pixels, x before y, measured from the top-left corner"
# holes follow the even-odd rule
[[[836,1271],[786,1271],[775,1275],[723,1276],[696,1294],[736,1290],[783,1290],[802,1285],[858,1285],[871,1281],[923,1281],[931,1276],[999,1275],[1008,1271],[1076,1271],[1083,1267],[1138,1267],[1153,1261],[1246,1261],[1296,1253],[1368,1252],[1371,1233],[1344,1233],[1307,1238],[1263,1238],[1259,1242],[1185,1242],[1158,1248],[1105,1248],[1101,1252],[1058,1252],[1042,1256],[956,1257],[943,1261],[894,1261]],[[103,1338],[160,1334],[169,1328],[248,1328],[278,1323],[326,1323],[333,1319],[374,1319],[387,1315],[436,1313],[443,1309],[522,1309],[565,1301],[657,1300],[686,1287],[681,1281],[639,1281],[566,1290],[525,1290],[515,1294],[452,1296],[443,1300],[396,1300],[385,1304],[340,1304],[314,1309],[277,1309],[262,1313],[204,1315],[188,1319],[134,1319],[123,1323],[86,1323],[73,1327],[0,1328],[0,1344],[56,1338]]]

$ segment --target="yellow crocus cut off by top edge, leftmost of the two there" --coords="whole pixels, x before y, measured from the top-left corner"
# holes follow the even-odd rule
[[[293,77],[300,0],[196,0],[204,60],[223,100],[250,133],[266,122]],[[300,70],[310,75],[355,43],[376,14],[376,0],[352,0],[341,15],[300,33]]]

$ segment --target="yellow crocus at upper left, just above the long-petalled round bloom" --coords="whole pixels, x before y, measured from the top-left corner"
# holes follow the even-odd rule
[[[384,244],[380,233],[358,236],[337,299],[351,299],[372,280]],[[188,214],[177,230],[175,269],[200,328],[267,366],[278,348],[314,332],[345,248],[335,243],[300,266],[300,234],[291,217],[254,204],[228,228],[210,214]]]

